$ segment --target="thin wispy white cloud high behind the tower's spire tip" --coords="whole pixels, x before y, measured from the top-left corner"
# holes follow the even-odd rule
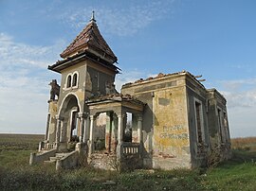
[[[147,1],[144,4],[136,2],[136,4],[129,4],[125,9],[101,6],[69,9],[62,15],[62,19],[68,25],[82,28],[88,22],[84,19],[84,15],[91,15],[91,11],[95,10],[96,20],[104,32],[119,36],[132,36],[139,29],[170,14],[173,11],[173,4],[174,0],[166,0]]]

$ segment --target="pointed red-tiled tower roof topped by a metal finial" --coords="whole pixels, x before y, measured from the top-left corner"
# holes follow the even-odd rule
[[[82,32],[65,48],[60,56],[66,59],[83,51],[100,57],[109,63],[118,61],[118,58],[101,36],[101,32],[96,24],[94,11],[87,26],[83,28]]]

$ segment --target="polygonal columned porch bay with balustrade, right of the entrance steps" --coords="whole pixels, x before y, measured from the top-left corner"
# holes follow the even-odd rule
[[[104,169],[141,166],[144,104],[131,96],[122,95],[94,98],[86,104],[90,111],[88,163]],[[99,139],[95,130],[101,113],[106,115],[103,140]]]

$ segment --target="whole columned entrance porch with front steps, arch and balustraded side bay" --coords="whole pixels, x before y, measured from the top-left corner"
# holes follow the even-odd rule
[[[141,167],[144,103],[131,96],[103,96],[87,100],[85,103],[89,113],[82,113],[74,97],[70,97],[69,102],[69,108],[56,117],[55,142],[42,142],[41,154],[33,155],[31,164],[53,157],[57,169],[60,166],[69,167],[68,164],[79,165],[81,159],[88,165],[103,169]],[[71,117],[65,113],[71,113]],[[99,134],[97,123],[102,113],[105,114],[105,124],[100,126],[103,133]],[[77,130],[78,139],[75,142],[72,142],[73,130]],[[72,143],[75,147],[68,148]],[[67,153],[65,157],[55,157],[56,153],[63,152]]]

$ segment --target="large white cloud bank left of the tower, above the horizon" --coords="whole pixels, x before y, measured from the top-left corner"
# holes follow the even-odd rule
[[[57,60],[63,43],[32,46],[0,33],[0,132],[45,131],[48,81],[46,68]]]

